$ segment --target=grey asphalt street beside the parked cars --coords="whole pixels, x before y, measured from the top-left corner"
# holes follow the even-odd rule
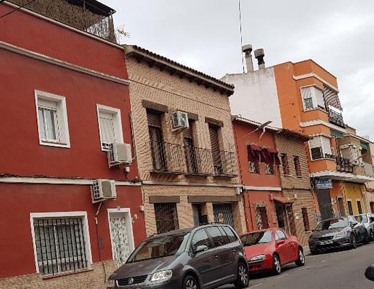
[[[357,249],[306,256],[304,267],[287,265],[276,277],[252,275],[247,289],[373,289],[374,282],[364,277],[372,263],[373,242]]]

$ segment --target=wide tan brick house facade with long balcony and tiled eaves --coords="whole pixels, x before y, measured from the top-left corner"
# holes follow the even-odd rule
[[[233,87],[137,46],[125,51],[147,235],[221,220],[242,233]],[[184,128],[172,124],[176,113]]]

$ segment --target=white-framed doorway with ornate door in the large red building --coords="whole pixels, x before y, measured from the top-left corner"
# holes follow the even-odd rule
[[[108,209],[112,257],[118,267],[123,265],[134,250],[134,234],[130,209]]]

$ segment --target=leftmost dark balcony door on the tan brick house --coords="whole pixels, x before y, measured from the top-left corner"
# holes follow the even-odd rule
[[[150,134],[150,150],[152,155],[153,169],[166,170],[165,150],[163,148],[161,114],[147,112],[148,132]]]

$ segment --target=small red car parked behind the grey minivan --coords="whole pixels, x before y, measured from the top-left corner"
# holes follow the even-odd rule
[[[270,270],[281,274],[282,266],[295,262],[305,265],[303,247],[295,236],[287,236],[282,229],[262,229],[241,237],[247,256],[249,272]]]

